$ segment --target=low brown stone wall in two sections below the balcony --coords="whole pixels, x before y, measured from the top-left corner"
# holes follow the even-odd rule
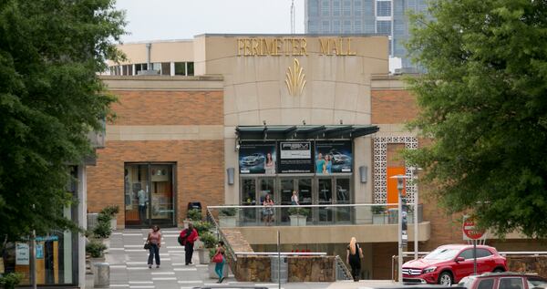
[[[334,256],[289,256],[288,282],[335,282]],[[232,263],[238,282],[271,282],[269,256],[240,256]]]

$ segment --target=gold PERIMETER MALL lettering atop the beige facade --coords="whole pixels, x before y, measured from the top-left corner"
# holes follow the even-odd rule
[[[355,56],[351,37],[315,38],[319,54],[325,56]],[[307,56],[306,38],[237,38],[238,57]]]

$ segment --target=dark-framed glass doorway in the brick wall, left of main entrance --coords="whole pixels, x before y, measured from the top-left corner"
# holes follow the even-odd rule
[[[126,163],[124,174],[126,228],[176,225],[174,163]]]

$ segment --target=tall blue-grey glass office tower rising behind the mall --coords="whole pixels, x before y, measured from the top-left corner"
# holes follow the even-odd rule
[[[426,12],[427,0],[306,0],[305,33],[377,34],[389,37],[389,56],[403,71],[416,66],[407,57],[408,11]]]

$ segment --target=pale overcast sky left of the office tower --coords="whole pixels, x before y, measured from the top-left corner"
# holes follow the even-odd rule
[[[291,0],[118,0],[117,7],[126,10],[126,43],[291,32]],[[304,0],[294,0],[294,7],[295,32],[304,33]]]

